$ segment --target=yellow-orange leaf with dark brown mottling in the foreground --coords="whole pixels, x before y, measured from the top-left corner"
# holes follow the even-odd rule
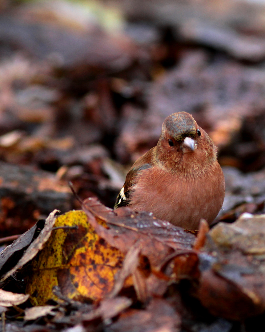
[[[101,222],[103,226],[103,221]],[[76,228],[70,228],[77,226]],[[70,211],[57,217],[55,229],[43,250],[31,263],[27,293],[34,305],[58,301],[52,290],[71,299],[102,298],[114,285],[114,276],[124,255],[100,238],[83,211]],[[67,228],[68,227],[68,228]]]

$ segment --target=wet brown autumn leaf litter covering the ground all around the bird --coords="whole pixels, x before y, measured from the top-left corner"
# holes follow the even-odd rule
[[[0,326],[259,331],[264,7],[115,3],[126,19],[99,2],[92,11],[65,1],[0,6],[0,231],[4,244],[18,237],[1,247],[1,278],[9,276]],[[202,221],[198,235],[108,208],[131,163],[179,110],[218,145],[227,193],[215,223],[235,221],[210,231]],[[83,211],[67,181],[91,198]],[[64,214],[52,226],[45,219],[54,208]]]

